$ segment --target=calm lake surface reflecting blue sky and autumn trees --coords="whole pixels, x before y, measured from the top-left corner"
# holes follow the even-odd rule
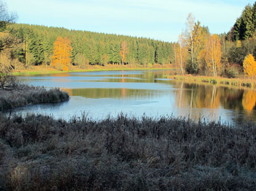
[[[93,119],[130,116],[191,117],[229,123],[256,120],[256,92],[250,89],[196,85],[164,79],[173,71],[99,71],[26,76],[30,85],[60,87],[70,100],[57,104],[35,104],[14,112],[52,114],[70,119],[85,112]]]

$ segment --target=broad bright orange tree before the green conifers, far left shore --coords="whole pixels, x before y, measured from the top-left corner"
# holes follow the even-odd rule
[[[52,66],[59,66],[64,71],[68,71],[67,64],[71,63],[72,47],[67,37],[58,36],[54,42],[54,50],[52,55]]]

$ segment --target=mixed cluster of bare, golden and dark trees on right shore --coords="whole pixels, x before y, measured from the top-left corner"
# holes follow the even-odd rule
[[[226,34],[210,34],[189,15],[186,30],[173,44],[178,73],[205,76],[256,76],[256,2],[248,4]]]

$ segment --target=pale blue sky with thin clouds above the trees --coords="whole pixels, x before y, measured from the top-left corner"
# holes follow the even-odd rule
[[[174,42],[189,13],[210,33],[227,33],[255,0],[7,0],[17,23],[58,26]]]

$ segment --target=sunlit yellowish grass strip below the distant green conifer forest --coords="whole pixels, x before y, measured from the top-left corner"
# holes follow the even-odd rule
[[[130,66],[130,65],[107,65],[107,66],[87,66],[85,69],[76,68],[75,66],[70,66],[68,72],[90,72],[90,71],[113,71],[113,70],[142,70],[142,69],[173,69],[171,64],[154,64],[151,66]],[[30,68],[16,69],[12,74],[15,76],[29,76],[36,74],[57,74],[65,73],[65,71],[59,71],[51,66],[31,66]]]

